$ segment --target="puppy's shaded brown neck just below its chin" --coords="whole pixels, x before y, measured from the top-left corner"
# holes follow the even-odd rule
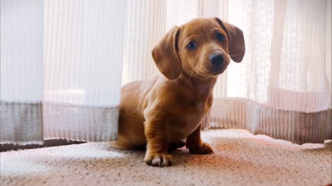
[[[192,76],[183,70],[178,79],[190,88],[194,99],[206,100],[212,95],[213,87],[216,84],[216,76]]]

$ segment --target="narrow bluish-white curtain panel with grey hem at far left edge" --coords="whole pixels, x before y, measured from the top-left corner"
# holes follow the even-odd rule
[[[0,143],[43,142],[43,1],[0,1]]]

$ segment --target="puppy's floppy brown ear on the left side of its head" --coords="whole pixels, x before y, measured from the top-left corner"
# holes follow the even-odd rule
[[[154,63],[160,72],[170,80],[176,79],[182,70],[181,59],[178,56],[179,34],[180,28],[174,26],[152,50]]]

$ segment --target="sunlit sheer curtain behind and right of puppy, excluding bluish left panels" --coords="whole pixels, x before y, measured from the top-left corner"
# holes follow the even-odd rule
[[[243,30],[246,55],[219,76],[204,127],[243,128],[299,144],[332,138],[331,1],[129,0],[129,5],[126,27],[135,26],[135,32],[124,36],[124,46],[133,48],[124,52],[122,85],[160,75],[150,51],[172,25],[219,17]]]

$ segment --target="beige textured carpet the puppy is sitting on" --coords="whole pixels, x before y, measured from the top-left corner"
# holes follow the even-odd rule
[[[172,153],[172,167],[149,167],[142,151],[83,143],[1,152],[5,185],[327,185],[331,141],[294,145],[246,130],[202,134],[212,155]]]

